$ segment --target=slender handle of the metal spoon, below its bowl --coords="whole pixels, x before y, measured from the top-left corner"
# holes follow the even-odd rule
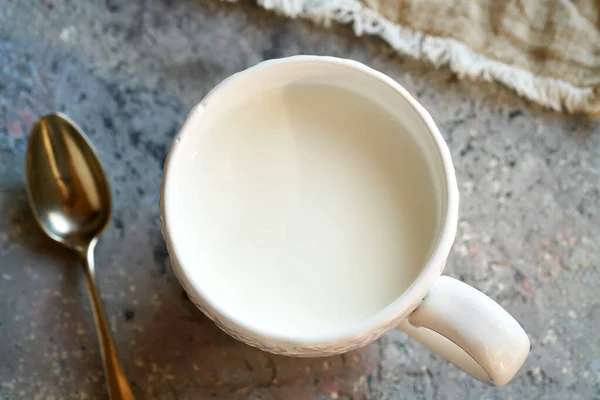
[[[98,341],[100,342],[102,360],[104,361],[104,375],[106,377],[108,397],[110,400],[133,400],[133,393],[127,383],[123,367],[121,367],[121,363],[119,362],[110,328],[106,322],[102,300],[100,299],[98,287],[96,286],[96,279],[94,277],[95,245],[96,242],[93,241],[87,248],[85,256],[83,257],[83,266],[90,295],[90,302],[92,303],[92,310],[94,311],[94,320],[96,321],[96,332],[98,333]]]

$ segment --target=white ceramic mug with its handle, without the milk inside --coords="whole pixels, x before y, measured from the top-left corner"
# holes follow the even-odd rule
[[[401,116],[406,131],[419,143],[431,166],[439,221],[435,237],[431,237],[431,251],[418,266],[419,273],[391,304],[334,333],[295,337],[257,329],[229,313],[207,293],[201,277],[193,274],[196,266],[191,258],[183,255],[184,234],[180,231],[185,216],[177,210],[183,193],[175,181],[195,173],[178,160],[196,157],[192,139],[198,134],[196,128],[210,124],[215,111],[269,89],[303,81],[347,88],[389,106]],[[221,329],[240,341],[278,354],[327,356],[365,346],[390,329],[399,328],[473,377],[500,386],[522,366],[529,352],[529,339],[517,321],[492,299],[465,283],[441,276],[456,234],[458,202],[449,149],[431,116],[403,87],[355,61],[297,56],[266,61],[235,74],[189,113],[165,163],[161,219],[173,269],[188,296]]]

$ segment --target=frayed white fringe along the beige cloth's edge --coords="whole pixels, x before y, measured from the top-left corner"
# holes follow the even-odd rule
[[[357,36],[379,36],[398,53],[448,66],[459,78],[499,82],[542,106],[556,111],[600,117],[600,87],[580,88],[558,79],[489,59],[463,43],[394,24],[358,0],[257,0],[267,9],[290,18],[302,17],[328,26],[352,24]]]

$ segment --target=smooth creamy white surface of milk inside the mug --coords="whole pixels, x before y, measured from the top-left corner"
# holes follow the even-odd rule
[[[278,335],[337,332],[419,274],[437,200],[401,116],[346,89],[291,85],[198,135],[171,219],[181,263],[229,315]]]

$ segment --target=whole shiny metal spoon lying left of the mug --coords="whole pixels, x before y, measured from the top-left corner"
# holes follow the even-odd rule
[[[108,179],[91,143],[68,117],[50,114],[32,128],[27,146],[27,195],[44,232],[81,257],[111,400],[131,400],[94,278],[94,247],[108,225]]]

